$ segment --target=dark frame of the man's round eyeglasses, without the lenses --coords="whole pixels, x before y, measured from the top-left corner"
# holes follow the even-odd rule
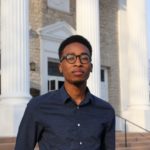
[[[73,62],[70,62],[70,61],[69,61],[69,58],[67,59],[68,56],[74,56],[74,58],[75,58],[74,61],[73,61]],[[82,56],[88,56],[89,61],[83,62]],[[66,59],[66,61],[67,61],[69,64],[74,64],[74,63],[77,61],[77,57],[79,58],[81,64],[88,64],[88,63],[91,62],[91,56],[90,56],[89,54],[87,54],[87,53],[83,53],[83,54],[80,54],[80,55],[66,54],[66,55],[64,55],[64,56],[62,56],[62,57],[60,58],[60,62],[62,62],[64,59]]]

